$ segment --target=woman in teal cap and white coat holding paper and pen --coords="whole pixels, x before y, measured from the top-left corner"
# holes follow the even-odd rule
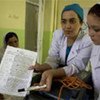
[[[62,29],[54,32],[45,63],[31,66],[31,69],[43,72],[39,83],[47,85],[43,91],[51,90],[53,78],[70,76],[85,69],[92,42],[82,30],[83,16],[83,9],[78,4],[65,6],[61,14]]]

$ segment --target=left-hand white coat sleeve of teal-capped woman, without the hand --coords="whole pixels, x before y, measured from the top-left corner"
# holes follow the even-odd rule
[[[56,30],[53,34],[52,43],[49,49],[48,57],[45,63],[48,63],[52,68],[57,68],[60,62],[60,49],[61,49],[61,41],[63,37],[62,30]]]

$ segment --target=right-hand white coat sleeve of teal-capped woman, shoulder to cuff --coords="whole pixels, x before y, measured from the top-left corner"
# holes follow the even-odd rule
[[[78,73],[81,70],[85,70],[88,61],[90,60],[92,47],[93,44],[90,37],[85,35],[82,38],[78,55],[76,56],[74,62],[63,68],[66,72],[66,75],[70,76],[74,73]]]

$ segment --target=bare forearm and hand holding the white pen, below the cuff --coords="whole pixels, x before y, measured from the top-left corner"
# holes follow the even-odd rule
[[[66,76],[63,68],[47,70],[42,74],[40,85],[46,84],[47,87],[42,91],[50,91],[53,78],[62,78]]]

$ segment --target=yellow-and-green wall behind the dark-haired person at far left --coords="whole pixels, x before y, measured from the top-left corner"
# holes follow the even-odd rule
[[[9,31],[17,33],[20,47],[24,48],[25,0],[0,0],[0,47],[4,35]]]

